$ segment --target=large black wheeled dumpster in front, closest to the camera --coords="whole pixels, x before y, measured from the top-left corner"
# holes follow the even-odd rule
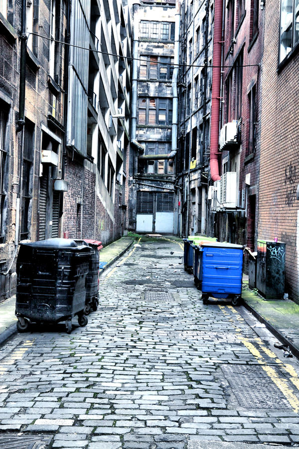
[[[80,326],[87,324],[84,308],[91,253],[89,246],[71,239],[20,244],[15,304],[19,331],[26,330],[28,320],[65,321],[70,333],[75,315]]]

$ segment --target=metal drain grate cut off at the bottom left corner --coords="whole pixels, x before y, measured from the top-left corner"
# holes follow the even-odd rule
[[[51,440],[44,435],[5,435],[0,437],[0,449],[46,449]]]

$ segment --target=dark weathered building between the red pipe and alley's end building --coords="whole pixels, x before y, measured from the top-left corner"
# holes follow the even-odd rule
[[[180,234],[207,232],[214,1],[181,6],[179,72]]]

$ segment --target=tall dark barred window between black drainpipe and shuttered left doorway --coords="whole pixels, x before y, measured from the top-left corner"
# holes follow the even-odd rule
[[[33,125],[27,121],[24,126],[24,150],[23,150],[23,176],[21,196],[21,229],[20,237],[29,237],[29,205],[31,200],[31,167],[33,162]]]

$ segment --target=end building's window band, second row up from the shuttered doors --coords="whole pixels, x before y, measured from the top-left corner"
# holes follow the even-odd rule
[[[172,99],[170,98],[139,98],[139,125],[172,124]]]

